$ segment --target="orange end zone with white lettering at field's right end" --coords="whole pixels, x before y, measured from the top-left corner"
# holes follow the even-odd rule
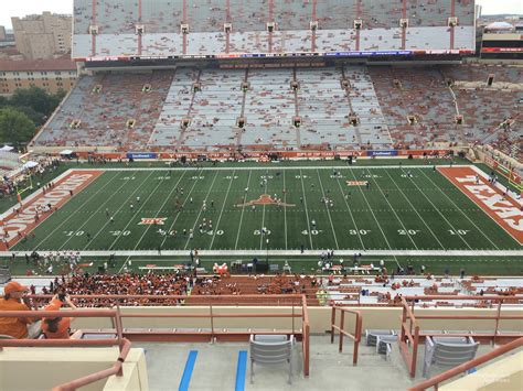
[[[439,167],[471,200],[492,217],[520,245],[523,245],[523,210],[512,197],[493,186],[471,167]]]

